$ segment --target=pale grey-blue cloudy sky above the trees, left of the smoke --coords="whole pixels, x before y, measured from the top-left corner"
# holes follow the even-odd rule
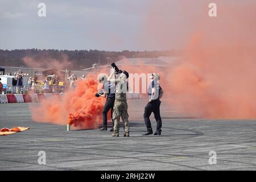
[[[0,49],[138,49],[130,40],[147,1],[1,0]],[[38,16],[40,2],[46,17]]]

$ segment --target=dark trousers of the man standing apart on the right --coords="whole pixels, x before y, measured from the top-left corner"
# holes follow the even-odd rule
[[[145,106],[144,122],[146,124],[147,131],[152,130],[151,122],[150,122],[150,115],[152,112],[154,113],[155,120],[156,120],[156,131],[162,131],[161,130],[162,119],[160,116],[160,104],[161,104],[161,101],[158,99],[158,100],[148,102],[147,105]]]

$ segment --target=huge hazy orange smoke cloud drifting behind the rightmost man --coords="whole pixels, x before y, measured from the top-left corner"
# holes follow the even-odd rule
[[[256,118],[256,2],[216,0],[212,18],[210,2],[154,1],[144,36],[164,47],[187,44],[162,86],[185,113]]]

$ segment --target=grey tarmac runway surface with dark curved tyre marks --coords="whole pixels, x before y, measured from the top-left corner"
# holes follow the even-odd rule
[[[0,136],[0,170],[255,170],[256,121],[189,118],[162,102],[161,136],[146,130],[146,101],[130,100],[130,137],[32,121],[29,104],[0,104],[0,128],[30,130]],[[36,106],[38,104],[31,104]],[[38,113],[40,114],[40,113]],[[156,127],[154,116],[152,127]],[[109,126],[111,127],[111,126]],[[38,152],[46,152],[46,164]],[[209,164],[209,151],[217,164]]]

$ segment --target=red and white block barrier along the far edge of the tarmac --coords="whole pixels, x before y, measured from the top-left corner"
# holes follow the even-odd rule
[[[60,93],[33,93],[33,94],[0,94],[0,103],[27,103],[27,102],[42,102],[52,96],[61,97]],[[138,93],[127,93],[127,100],[144,99]]]

